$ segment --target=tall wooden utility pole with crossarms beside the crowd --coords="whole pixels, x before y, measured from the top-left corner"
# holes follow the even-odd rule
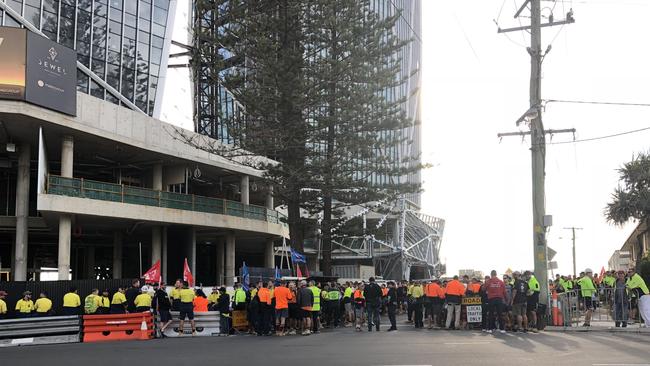
[[[530,26],[521,26],[510,29],[499,28],[499,33],[514,32],[530,29],[531,41],[528,53],[530,54],[530,107],[523,116],[517,120],[519,125],[524,120],[530,124],[530,132],[515,132],[500,134],[502,136],[530,135],[531,137],[531,165],[532,165],[532,198],[533,198],[533,255],[535,260],[535,277],[540,284],[539,302],[548,306],[548,259],[546,252],[546,225],[544,217],[545,207],[545,161],[546,161],[546,134],[560,131],[545,131],[542,124],[542,61],[551,47],[542,53],[542,27],[559,24],[573,23],[573,11],[566,15],[563,21],[554,22],[553,16],[549,17],[548,23],[542,24],[542,13],[540,0],[525,0],[524,4],[515,14],[518,18],[521,13],[530,5]],[[575,132],[566,130],[561,132]]]

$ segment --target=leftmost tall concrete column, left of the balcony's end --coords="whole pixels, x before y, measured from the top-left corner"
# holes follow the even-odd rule
[[[14,247],[13,280],[27,280],[27,246],[29,217],[29,144],[21,144],[18,151],[16,179],[16,245]]]

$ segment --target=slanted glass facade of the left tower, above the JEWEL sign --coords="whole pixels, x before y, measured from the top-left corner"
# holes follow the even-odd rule
[[[169,48],[165,43],[170,0],[0,1],[48,38],[76,49],[79,62],[153,115],[161,64],[166,65],[163,50]],[[0,24],[21,26],[19,19],[1,10]],[[122,103],[81,70],[77,70],[77,89]]]

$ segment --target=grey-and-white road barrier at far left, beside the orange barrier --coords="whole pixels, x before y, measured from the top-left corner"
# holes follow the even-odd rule
[[[0,347],[31,344],[77,343],[78,316],[49,316],[0,320]]]

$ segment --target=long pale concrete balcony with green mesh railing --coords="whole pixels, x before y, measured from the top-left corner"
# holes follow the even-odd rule
[[[49,175],[38,210],[288,237],[281,213],[220,198]]]

